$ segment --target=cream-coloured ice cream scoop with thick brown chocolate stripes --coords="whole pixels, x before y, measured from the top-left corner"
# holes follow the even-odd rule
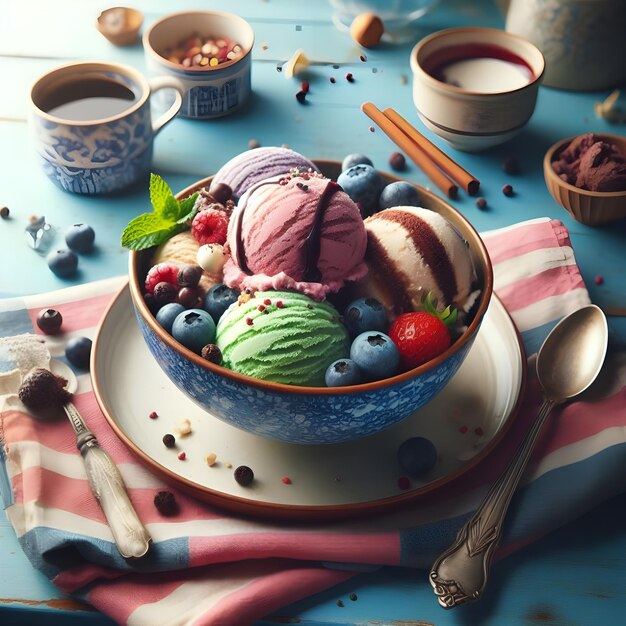
[[[369,267],[363,288],[391,318],[421,308],[428,292],[441,307],[463,308],[475,281],[466,241],[439,213],[398,206],[365,220]]]

